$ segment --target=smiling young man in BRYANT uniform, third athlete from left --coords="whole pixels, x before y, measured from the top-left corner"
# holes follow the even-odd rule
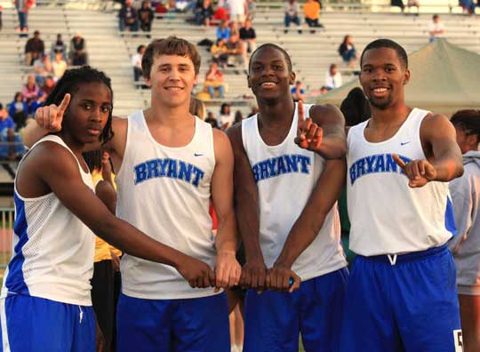
[[[345,175],[344,121],[331,106],[304,112],[292,100],[294,82],[288,54],[260,46],[248,76],[260,113],[228,130],[246,252],[240,284],[252,287],[245,352],[295,351],[299,332],[307,351],[339,344],[348,276],[335,204]]]

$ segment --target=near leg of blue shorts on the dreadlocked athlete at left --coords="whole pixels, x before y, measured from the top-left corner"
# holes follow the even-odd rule
[[[20,295],[0,300],[0,305],[5,351],[70,351],[74,325],[79,323],[76,306]]]

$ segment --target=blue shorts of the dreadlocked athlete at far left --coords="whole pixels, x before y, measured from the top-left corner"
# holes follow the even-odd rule
[[[38,297],[0,300],[0,352],[95,352],[92,307]]]

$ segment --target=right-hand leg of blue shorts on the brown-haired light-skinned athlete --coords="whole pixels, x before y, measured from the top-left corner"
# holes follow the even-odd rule
[[[172,352],[229,352],[225,292],[179,300],[173,313]]]

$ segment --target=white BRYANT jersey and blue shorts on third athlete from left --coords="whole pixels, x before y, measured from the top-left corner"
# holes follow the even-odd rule
[[[306,117],[310,107],[305,105]],[[261,139],[257,115],[242,122],[244,150],[259,191],[260,247],[268,268],[273,267],[324,170],[324,158],[295,144],[297,126],[295,104],[285,140],[268,146]],[[335,204],[315,240],[292,266],[301,277],[300,290],[247,292],[244,351],[297,350],[299,332],[308,351],[333,350],[338,345],[346,266]]]

